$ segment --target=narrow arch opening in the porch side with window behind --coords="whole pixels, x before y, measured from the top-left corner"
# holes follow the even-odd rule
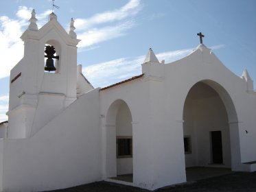
[[[118,99],[106,114],[106,177],[132,182],[132,114],[125,101]]]

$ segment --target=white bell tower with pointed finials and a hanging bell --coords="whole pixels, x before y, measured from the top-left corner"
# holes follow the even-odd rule
[[[69,34],[52,12],[40,29],[32,11],[21,36],[24,56],[10,73],[8,137],[33,136],[76,99],[77,45],[71,19]]]

